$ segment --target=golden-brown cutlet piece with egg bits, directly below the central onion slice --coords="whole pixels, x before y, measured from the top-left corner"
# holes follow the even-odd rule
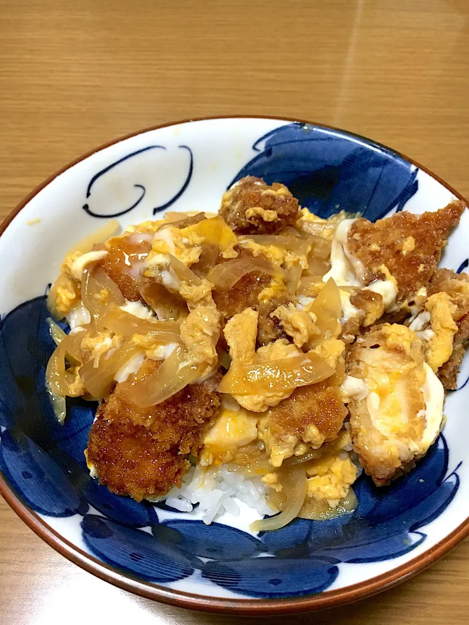
[[[337,378],[299,387],[268,411],[260,427],[273,466],[293,456],[298,444],[318,449],[336,439],[347,415]]]

